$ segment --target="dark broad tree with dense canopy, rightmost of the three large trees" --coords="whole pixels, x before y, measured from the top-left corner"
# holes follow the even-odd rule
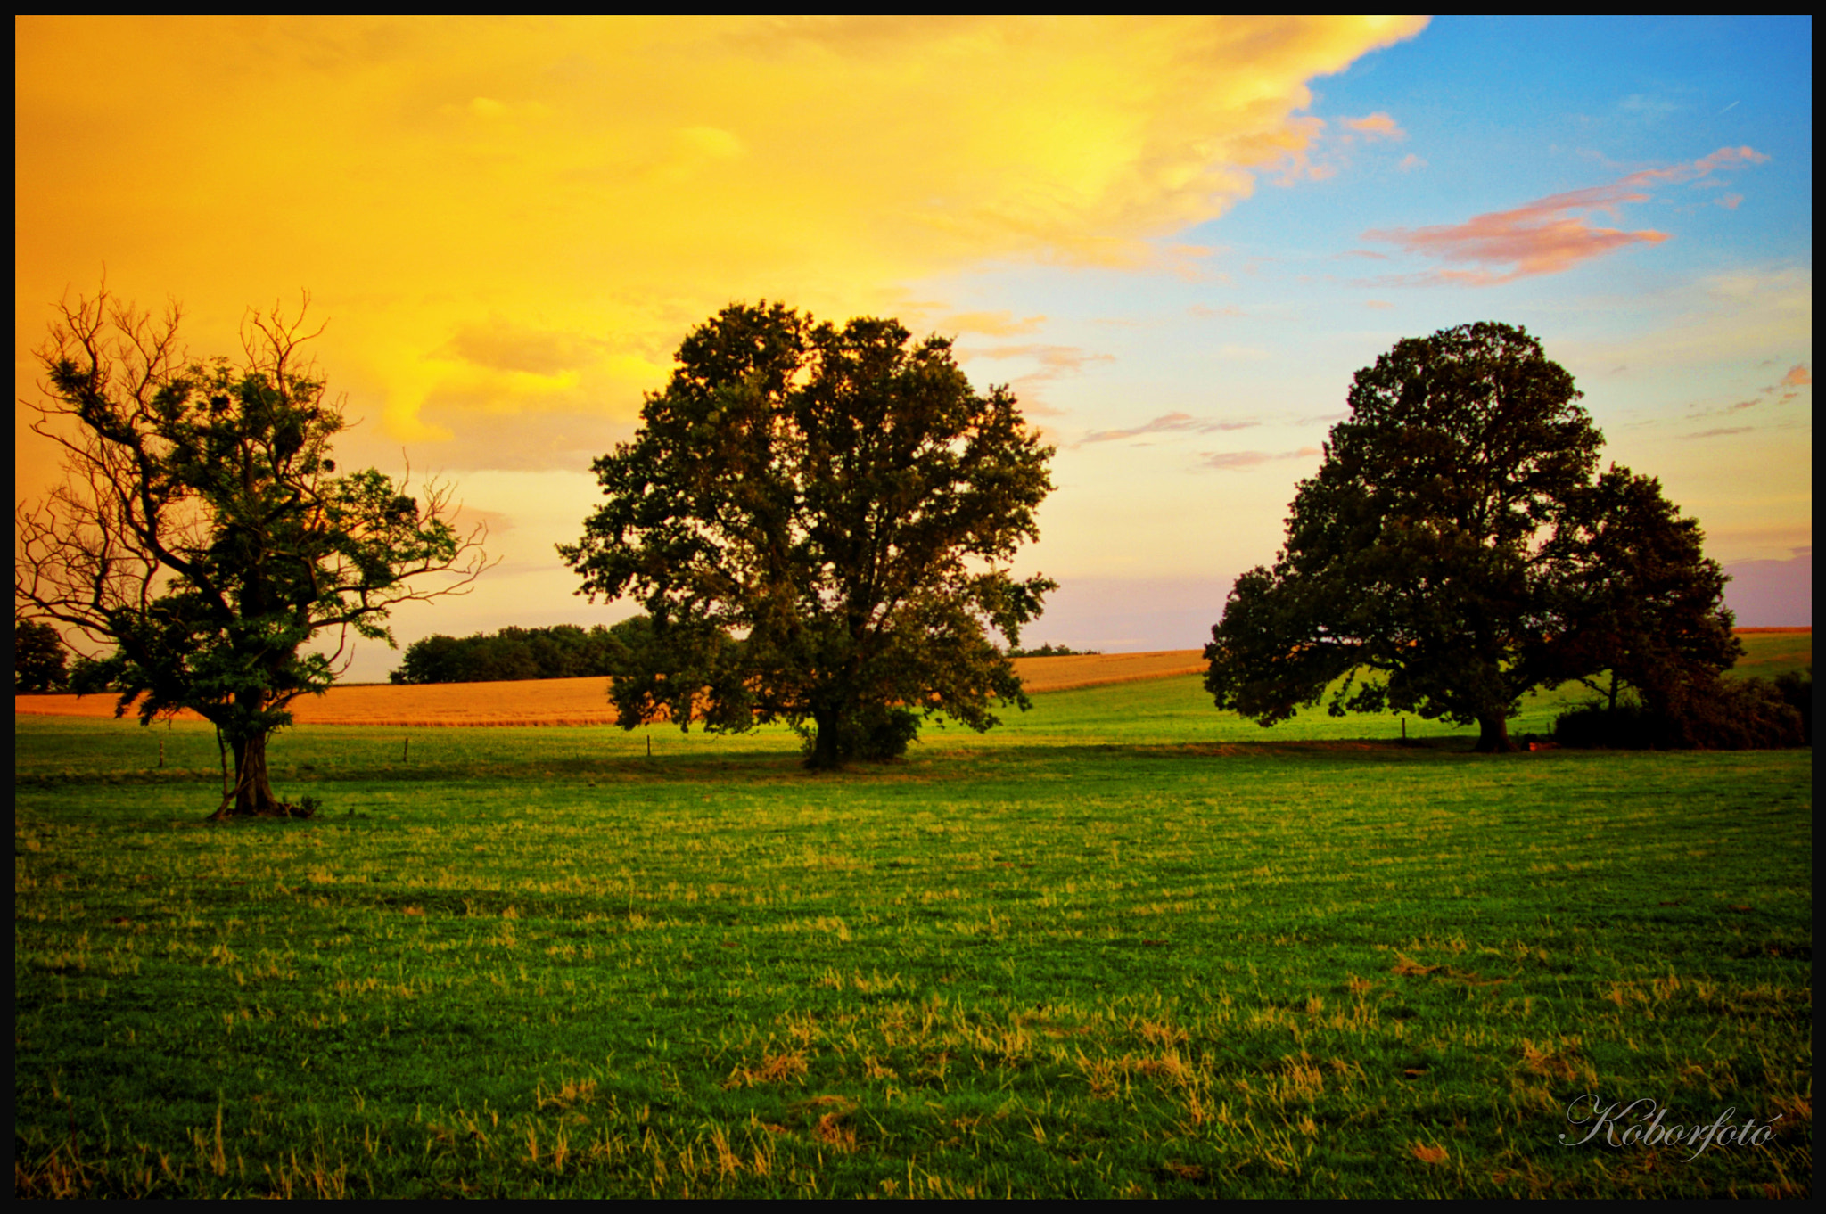
[[[1523,329],[1461,325],[1357,372],[1275,568],[1244,573],[1205,648],[1220,708],[1477,723],[1510,750],[1521,696],[1603,670],[1645,696],[1740,646],[1724,573],[1660,484],[1612,467],[1572,376]]]

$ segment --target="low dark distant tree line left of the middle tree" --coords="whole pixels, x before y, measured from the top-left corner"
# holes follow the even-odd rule
[[[634,621],[614,628],[577,624],[502,628],[469,637],[433,633],[405,646],[394,683],[504,683],[509,679],[608,677],[624,661]]]

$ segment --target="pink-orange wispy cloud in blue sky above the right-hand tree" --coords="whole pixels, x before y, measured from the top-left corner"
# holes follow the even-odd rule
[[[1616,214],[1625,203],[1643,203],[1651,183],[1684,183],[1711,173],[1720,164],[1760,162],[1769,157],[1753,148],[1720,148],[1711,155],[1673,168],[1642,170],[1620,181],[1554,194],[1516,210],[1474,215],[1466,223],[1428,228],[1380,228],[1364,239],[1395,245],[1411,254],[1448,263],[1472,263],[1474,270],[1435,270],[1421,281],[1472,287],[1508,283],[1532,274],[1558,274],[1581,261],[1629,245],[1658,245],[1665,232],[1623,232],[1590,221],[1592,212]]]

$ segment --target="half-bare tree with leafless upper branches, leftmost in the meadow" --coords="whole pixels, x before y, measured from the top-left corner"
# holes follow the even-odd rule
[[[68,478],[15,513],[15,602],[111,646],[77,690],[117,690],[117,716],[215,725],[234,754],[217,816],[285,814],[267,739],[287,705],[331,685],[352,635],[391,644],[391,606],[466,588],[482,551],[447,491],[336,471],[341,411],[298,319],[252,314],[239,363],[184,358],[177,327],[106,290],[60,307],[35,429]],[[305,652],[325,630],[336,648]]]

